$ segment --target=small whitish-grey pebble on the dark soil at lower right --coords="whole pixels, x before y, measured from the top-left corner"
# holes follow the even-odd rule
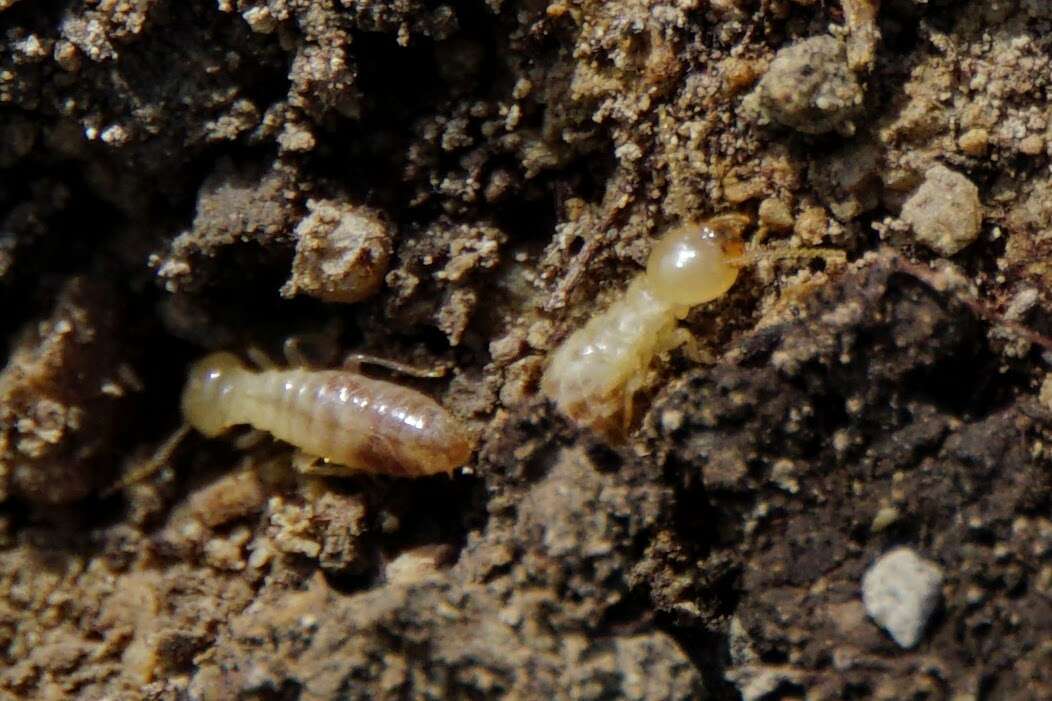
[[[899,646],[920,642],[928,619],[938,605],[943,570],[908,547],[877,558],[862,578],[866,613]]]

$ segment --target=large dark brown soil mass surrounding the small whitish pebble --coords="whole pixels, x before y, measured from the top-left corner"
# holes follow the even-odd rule
[[[999,688],[1049,688],[1048,653],[1031,652],[1049,636],[1036,590],[1049,580],[1025,564],[1049,552],[1049,530],[1019,516],[1048,508],[1049,415],[954,382],[989,362],[985,339],[967,306],[874,255],[655,400],[653,459],[683,480],[683,525],[711,540],[650,562],[649,589],[689,615],[730,580],[725,675],[743,696],[913,698],[931,650],[947,688],[970,688],[979,663]],[[859,598],[870,564],[904,540],[946,577],[944,617],[909,653]],[[930,610],[916,610],[923,627]]]

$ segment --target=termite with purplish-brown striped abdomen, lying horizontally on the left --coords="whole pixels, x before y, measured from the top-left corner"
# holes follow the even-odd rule
[[[312,474],[449,473],[474,449],[467,427],[414,389],[349,369],[254,370],[229,353],[194,364],[182,409],[205,436],[238,424],[266,430],[308,456],[297,466]]]

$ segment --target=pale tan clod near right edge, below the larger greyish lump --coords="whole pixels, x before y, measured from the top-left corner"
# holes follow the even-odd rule
[[[978,187],[945,165],[934,165],[903,205],[903,221],[918,241],[942,256],[953,256],[973,242],[983,225]]]

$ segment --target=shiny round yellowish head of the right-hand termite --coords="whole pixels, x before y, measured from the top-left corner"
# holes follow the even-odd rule
[[[745,215],[723,215],[673,228],[647,261],[650,288],[662,300],[686,306],[723,296],[737,279],[748,225]]]

